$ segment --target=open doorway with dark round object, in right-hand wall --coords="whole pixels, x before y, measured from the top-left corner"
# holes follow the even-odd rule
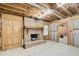
[[[60,43],[67,44],[68,27],[67,23],[61,23],[58,25],[58,40]]]

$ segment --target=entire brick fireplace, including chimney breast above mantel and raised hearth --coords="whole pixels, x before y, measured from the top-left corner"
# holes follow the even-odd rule
[[[32,22],[35,24],[30,24]],[[29,22],[29,23],[28,23]],[[39,21],[40,22],[40,21]],[[40,25],[41,24],[41,25]],[[43,36],[43,24],[40,22],[40,26],[38,26],[38,21],[34,19],[27,18],[27,21],[25,21],[24,26],[24,43],[26,48],[38,45],[40,43],[44,43],[44,36]]]

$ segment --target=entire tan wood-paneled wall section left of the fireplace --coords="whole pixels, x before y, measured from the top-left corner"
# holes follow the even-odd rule
[[[22,45],[22,17],[2,14],[2,49],[15,48]]]

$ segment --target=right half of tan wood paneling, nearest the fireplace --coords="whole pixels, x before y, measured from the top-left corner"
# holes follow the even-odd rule
[[[14,17],[13,20],[13,47],[22,45],[22,17]]]

